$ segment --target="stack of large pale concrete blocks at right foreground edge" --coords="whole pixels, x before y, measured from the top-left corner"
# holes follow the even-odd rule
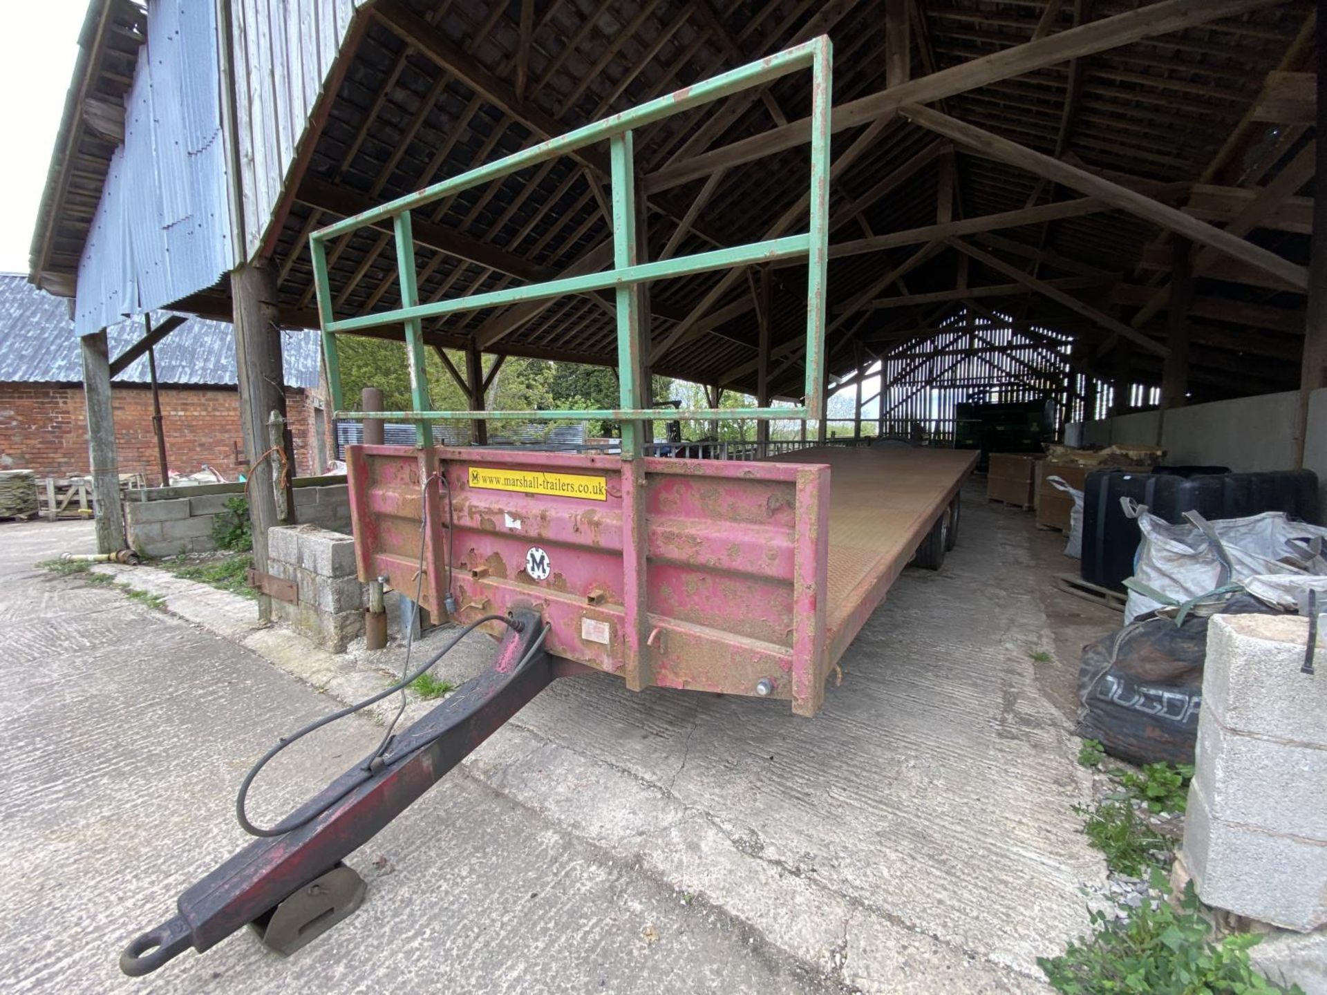
[[[1208,905],[1285,929],[1327,925],[1327,641],[1308,620],[1216,616],[1184,864]]]

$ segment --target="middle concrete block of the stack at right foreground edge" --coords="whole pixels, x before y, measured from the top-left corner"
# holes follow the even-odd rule
[[[1327,848],[1327,750],[1231,732],[1204,715],[1196,767],[1214,819]]]

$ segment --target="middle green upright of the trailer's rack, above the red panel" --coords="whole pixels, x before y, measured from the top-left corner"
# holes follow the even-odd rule
[[[632,133],[609,139],[613,180],[613,267],[622,269],[637,263],[636,240],[636,175],[632,167]],[[641,308],[636,287],[617,288],[617,382],[620,406],[625,410],[644,407],[642,377],[645,357],[641,348]],[[622,422],[622,459],[636,459],[645,451],[648,422]]]

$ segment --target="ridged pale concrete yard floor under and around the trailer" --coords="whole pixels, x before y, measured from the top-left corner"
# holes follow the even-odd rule
[[[247,841],[243,771],[336,703],[114,589],[32,569],[86,548],[86,525],[0,527],[0,986],[1044,990],[1035,958],[1085,930],[1105,880],[1072,812],[1089,792],[1072,702],[1079,646],[1120,616],[1052,592],[1063,537],[983,491],[966,488],[945,568],[906,570],[872,616],[816,718],[557,682],[352,856],[369,878],[352,919],[288,959],[236,935],[138,982],[119,947]],[[439,673],[486,659],[476,637]],[[264,817],[378,734],[356,718],[292,750],[260,785]]]

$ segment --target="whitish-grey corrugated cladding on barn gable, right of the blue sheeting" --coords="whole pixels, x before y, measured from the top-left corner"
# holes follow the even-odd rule
[[[231,0],[235,129],[248,259],[263,244],[358,5],[362,0]]]

